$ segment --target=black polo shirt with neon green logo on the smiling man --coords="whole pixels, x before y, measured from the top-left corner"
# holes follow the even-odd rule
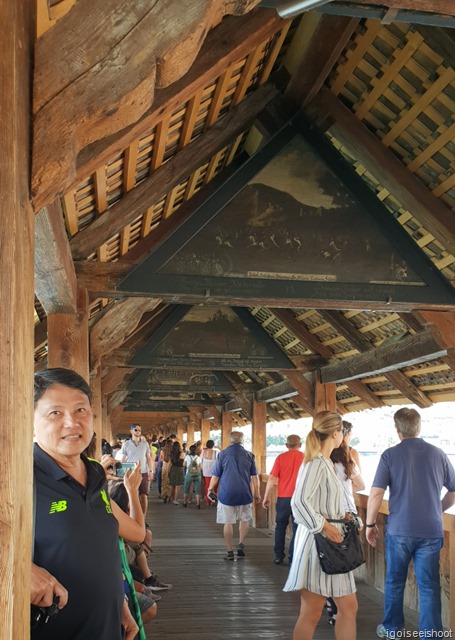
[[[81,456],[87,487],[69,476],[37,444],[33,561],[68,590],[68,604],[33,640],[121,640],[123,580],[118,522],[104,469]]]

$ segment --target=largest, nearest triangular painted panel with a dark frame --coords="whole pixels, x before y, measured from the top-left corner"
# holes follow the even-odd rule
[[[279,134],[228,182],[119,288],[237,304],[454,303],[431,261],[319,132]]]

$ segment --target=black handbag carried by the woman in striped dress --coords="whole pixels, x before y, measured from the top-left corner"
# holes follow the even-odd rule
[[[329,520],[328,522],[333,521]],[[340,520],[335,522],[340,522]],[[321,569],[329,575],[348,573],[365,562],[355,521],[345,522],[344,528],[343,542],[332,542],[321,533],[314,534]]]

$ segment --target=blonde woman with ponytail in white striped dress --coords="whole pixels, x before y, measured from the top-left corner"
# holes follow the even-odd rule
[[[311,640],[321,617],[325,600],[334,598],[338,607],[335,638],[355,640],[357,597],[352,572],[328,575],[321,569],[314,540],[323,533],[329,540],[341,542],[344,489],[330,454],[343,440],[341,416],[332,411],[315,415],[313,428],[305,443],[305,459],[300,468],[291,506],[297,533],[294,555],[284,591],[300,591],[300,615],[293,640]]]

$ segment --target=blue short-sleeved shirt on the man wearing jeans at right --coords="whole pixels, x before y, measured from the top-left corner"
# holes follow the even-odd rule
[[[382,454],[373,487],[389,487],[389,534],[443,536],[441,491],[455,491],[455,470],[442,449],[422,438],[405,438]]]

